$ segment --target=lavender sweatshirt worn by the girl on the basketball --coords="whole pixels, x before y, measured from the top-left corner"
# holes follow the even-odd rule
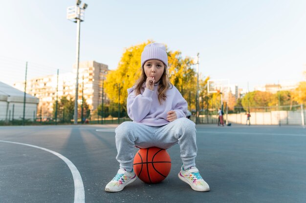
[[[135,87],[128,89],[128,115],[133,122],[139,122],[150,126],[168,124],[167,113],[175,110],[177,119],[186,117],[187,102],[175,86],[169,87],[167,98],[160,104],[157,96],[158,83],[154,84],[154,90],[145,88],[141,94],[136,95]]]

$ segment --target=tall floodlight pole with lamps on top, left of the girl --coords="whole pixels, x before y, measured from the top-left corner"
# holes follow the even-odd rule
[[[67,19],[77,23],[77,51],[76,51],[76,82],[75,82],[75,99],[74,99],[74,124],[78,124],[78,91],[79,91],[79,60],[80,60],[80,27],[81,22],[84,21],[84,12],[87,4],[84,3],[80,8],[81,0],[76,1],[75,6],[67,8]]]

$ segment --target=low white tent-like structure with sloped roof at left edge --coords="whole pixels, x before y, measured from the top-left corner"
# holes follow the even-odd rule
[[[0,121],[22,120],[24,92],[0,82]],[[25,94],[24,119],[36,119],[39,99]]]

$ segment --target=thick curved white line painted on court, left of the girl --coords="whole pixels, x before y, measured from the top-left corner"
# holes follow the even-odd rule
[[[83,185],[83,181],[82,181],[82,177],[78,171],[78,169],[75,167],[75,165],[70,162],[70,160],[68,160],[66,157],[64,157],[63,155],[52,151],[50,149],[46,149],[43,147],[39,147],[39,146],[35,146],[35,145],[31,145],[31,144],[25,144],[25,143],[20,143],[20,142],[10,142],[10,141],[2,141],[0,140],[0,142],[7,142],[7,143],[12,143],[12,144],[22,144],[25,146],[30,146],[30,147],[35,147],[38,149],[42,149],[44,151],[50,152],[52,154],[54,154],[55,156],[58,156],[60,159],[62,159],[69,167],[72,176],[73,176],[73,181],[74,181],[74,203],[85,203],[85,191],[84,191],[84,185]]]

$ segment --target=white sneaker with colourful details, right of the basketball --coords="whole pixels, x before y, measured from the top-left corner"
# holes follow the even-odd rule
[[[209,185],[203,180],[195,166],[184,170],[183,166],[178,173],[178,178],[185,183],[188,183],[193,190],[206,192],[209,191]]]

